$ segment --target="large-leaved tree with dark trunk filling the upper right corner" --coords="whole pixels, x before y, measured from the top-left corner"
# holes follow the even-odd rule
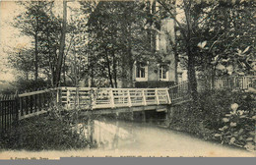
[[[253,37],[255,22],[251,19],[255,15],[253,1],[158,0],[158,2],[168,13],[168,17],[175,20],[176,29],[180,32],[179,53],[183,54],[182,49],[186,50],[183,59],[186,61],[189,88],[195,103],[197,101],[196,70],[203,71],[206,80],[211,80],[216,74],[215,68],[231,73],[233,66],[230,64],[234,64],[234,61],[241,63],[240,66],[253,65],[251,60],[253,49],[250,48],[255,47],[255,37]],[[183,14],[180,15],[182,19],[175,17],[173,3]],[[250,23],[250,26],[245,22]],[[247,64],[242,64],[241,58],[245,56],[244,53],[247,53],[246,57],[250,58]],[[237,58],[238,54],[240,54],[239,58]],[[218,64],[222,61],[225,67]],[[245,58],[243,61],[246,61]]]

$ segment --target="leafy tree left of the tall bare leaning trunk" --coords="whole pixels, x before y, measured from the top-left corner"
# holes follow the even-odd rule
[[[51,80],[53,85],[60,38],[60,21],[52,12],[54,2],[21,2],[20,4],[25,7],[25,12],[16,19],[14,26],[20,28],[23,34],[32,37],[33,58],[28,59],[33,64],[34,80],[38,79],[40,74],[41,78],[46,77]],[[23,53],[23,56],[29,54]]]

